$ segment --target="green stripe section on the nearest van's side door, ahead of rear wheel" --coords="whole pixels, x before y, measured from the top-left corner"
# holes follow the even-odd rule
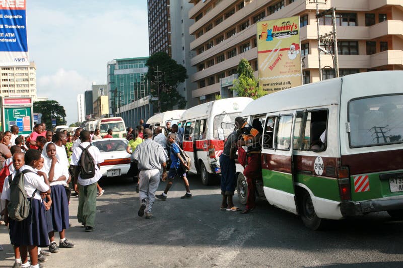
[[[293,177],[290,173],[262,169],[263,186],[284,191],[290,194],[294,193]]]

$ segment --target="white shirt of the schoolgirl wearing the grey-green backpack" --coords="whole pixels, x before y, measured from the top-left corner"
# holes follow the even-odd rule
[[[34,169],[29,166],[29,165],[23,165],[20,168],[20,171],[23,171],[25,169],[29,169],[32,172],[28,172],[24,175],[24,189],[25,189],[25,193],[27,194],[27,197],[30,198],[32,197],[32,194],[35,192],[35,196],[34,199],[38,199],[41,200],[41,195],[40,192],[46,192],[49,190],[49,186],[47,186],[47,184],[45,184],[45,181],[43,180],[43,178],[41,178],[40,176],[38,176],[38,174],[34,171]],[[15,175],[15,173],[13,173]],[[13,176],[14,179],[14,176]],[[7,181],[7,182],[6,182]],[[8,186],[7,191],[5,192],[5,196],[4,194],[2,195],[2,199],[6,199],[6,200],[10,200],[10,185],[9,185],[9,180],[6,180],[4,182],[4,184]],[[4,189],[4,187],[3,187]],[[4,196],[4,197],[3,197]]]

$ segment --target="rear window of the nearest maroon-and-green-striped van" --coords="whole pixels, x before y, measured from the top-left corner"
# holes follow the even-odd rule
[[[403,95],[349,102],[350,147],[403,142]]]

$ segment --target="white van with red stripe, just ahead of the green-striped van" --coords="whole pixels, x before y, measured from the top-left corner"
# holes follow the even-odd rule
[[[191,158],[190,172],[200,173],[204,185],[214,183],[221,174],[219,158],[224,142],[219,140],[218,129],[228,136],[234,130],[234,120],[253,100],[229,98],[200,104],[187,109],[180,119],[184,129],[183,149]]]

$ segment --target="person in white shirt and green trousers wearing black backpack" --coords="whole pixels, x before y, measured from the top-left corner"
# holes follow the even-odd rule
[[[74,168],[74,189],[79,193],[79,207],[77,219],[86,232],[92,232],[95,229],[95,214],[97,210],[97,183],[101,178],[100,164],[104,161],[96,146],[90,146],[90,132],[83,130],[80,133],[81,144],[74,148],[71,164]],[[92,178],[81,178],[80,158],[83,150],[88,148],[89,153],[94,158],[95,174]]]

